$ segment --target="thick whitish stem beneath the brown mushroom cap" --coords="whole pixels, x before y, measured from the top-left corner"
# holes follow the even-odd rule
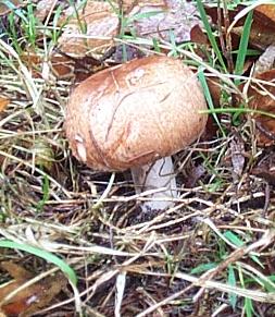
[[[164,210],[174,206],[173,198],[177,197],[177,191],[171,157],[159,159],[153,164],[132,168],[132,176],[137,194],[163,188],[163,191],[145,195],[150,200],[141,204],[143,211]]]

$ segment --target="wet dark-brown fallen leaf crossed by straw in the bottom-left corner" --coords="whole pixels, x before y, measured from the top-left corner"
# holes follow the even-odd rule
[[[20,265],[10,261],[1,263],[1,267],[14,278],[11,282],[0,285],[0,310],[7,316],[30,316],[49,305],[67,283],[65,277],[59,273],[54,277],[45,278],[20,291],[11,300],[4,301],[11,292],[32,279],[34,275]]]

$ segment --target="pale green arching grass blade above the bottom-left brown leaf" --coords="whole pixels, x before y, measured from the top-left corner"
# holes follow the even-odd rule
[[[25,251],[27,253],[34,254],[40,258],[43,258],[47,261],[52,263],[55,266],[58,266],[63,271],[63,273],[68,278],[72,284],[76,285],[77,283],[77,277],[76,277],[75,271],[63,259],[49,253],[48,251],[43,251],[41,248],[27,245],[27,244],[16,243],[10,240],[1,240],[0,247],[21,249],[21,251]]]

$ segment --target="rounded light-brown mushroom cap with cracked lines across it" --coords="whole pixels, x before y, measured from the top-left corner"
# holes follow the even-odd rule
[[[151,56],[98,72],[72,93],[65,131],[73,155],[103,171],[171,156],[196,141],[208,117],[192,71]]]

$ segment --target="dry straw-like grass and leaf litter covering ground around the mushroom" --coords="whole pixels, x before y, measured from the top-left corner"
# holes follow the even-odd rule
[[[260,52],[247,58],[241,74],[246,100],[235,98],[224,74],[216,76],[211,68],[205,72],[215,108],[245,105],[251,111],[218,114],[226,137],[210,120],[201,141],[174,156],[182,193],[176,206],[140,215],[138,203],[146,197],[134,194],[127,173],[112,179],[80,164],[67,150],[62,123],[70,92],[89,74],[153,49],[173,54],[178,46],[177,54],[196,64],[209,61],[212,48],[190,2],[85,4],[38,5],[37,19],[49,26],[58,8],[65,12],[58,21],[61,37],[49,51],[40,40],[36,49],[25,46],[14,53],[11,34],[1,47],[0,236],[59,254],[79,278],[77,294],[63,275],[46,277],[17,293],[22,297],[15,294],[1,313],[9,316],[8,309],[16,307],[22,316],[72,316],[80,307],[88,316],[240,316],[251,300],[257,314],[273,316],[274,7],[254,10],[249,45]],[[113,9],[124,12],[124,28]],[[223,31],[217,10],[205,9],[213,29]],[[229,10],[229,22],[243,10]],[[232,29],[233,50],[243,22]],[[190,39],[196,41],[192,54],[185,51]],[[0,252],[2,267],[8,260],[13,268],[8,271],[14,288],[29,281],[33,271],[52,269],[27,253]],[[229,266],[236,284],[228,284]],[[7,292],[11,277],[1,275],[1,291]],[[40,304],[26,305],[29,296]]]

